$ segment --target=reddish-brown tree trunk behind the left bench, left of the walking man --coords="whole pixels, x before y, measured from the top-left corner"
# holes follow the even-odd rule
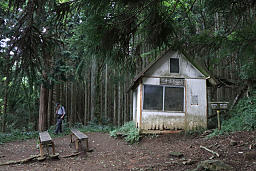
[[[38,123],[38,130],[40,132],[47,130],[48,95],[48,89],[42,84],[40,89],[40,107]]]

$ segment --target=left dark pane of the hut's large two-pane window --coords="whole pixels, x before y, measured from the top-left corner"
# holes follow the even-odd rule
[[[144,85],[143,109],[162,110],[163,109],[163,87],[154,85]]]

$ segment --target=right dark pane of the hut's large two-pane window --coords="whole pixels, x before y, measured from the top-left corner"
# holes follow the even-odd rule
[[[165,87],[165,111],[184,111],[184,88]]]

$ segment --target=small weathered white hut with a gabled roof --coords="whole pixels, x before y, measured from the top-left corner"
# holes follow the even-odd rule
[[[134,78],[133,120],[142,133],[207,127],[206,81],[213,80],[192,63],[168,50]]]

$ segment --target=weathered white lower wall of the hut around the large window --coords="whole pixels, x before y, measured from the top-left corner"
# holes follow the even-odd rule
[[[147,130],[191,130],[207,126],[206,80],[185,79],[184,82],[184,112],[144,110],[142,104],[139,128],[143,132],[147,132]],[[160,85],[160,79],[143,78],[143,84]],[[143,99],[143,85],[139,86],[138,90],[142,90]],[[138,101],[141,96],[139,91],[137,93]],[[137,115],[137,121],[140,121],[139,110],[137,110]]]

